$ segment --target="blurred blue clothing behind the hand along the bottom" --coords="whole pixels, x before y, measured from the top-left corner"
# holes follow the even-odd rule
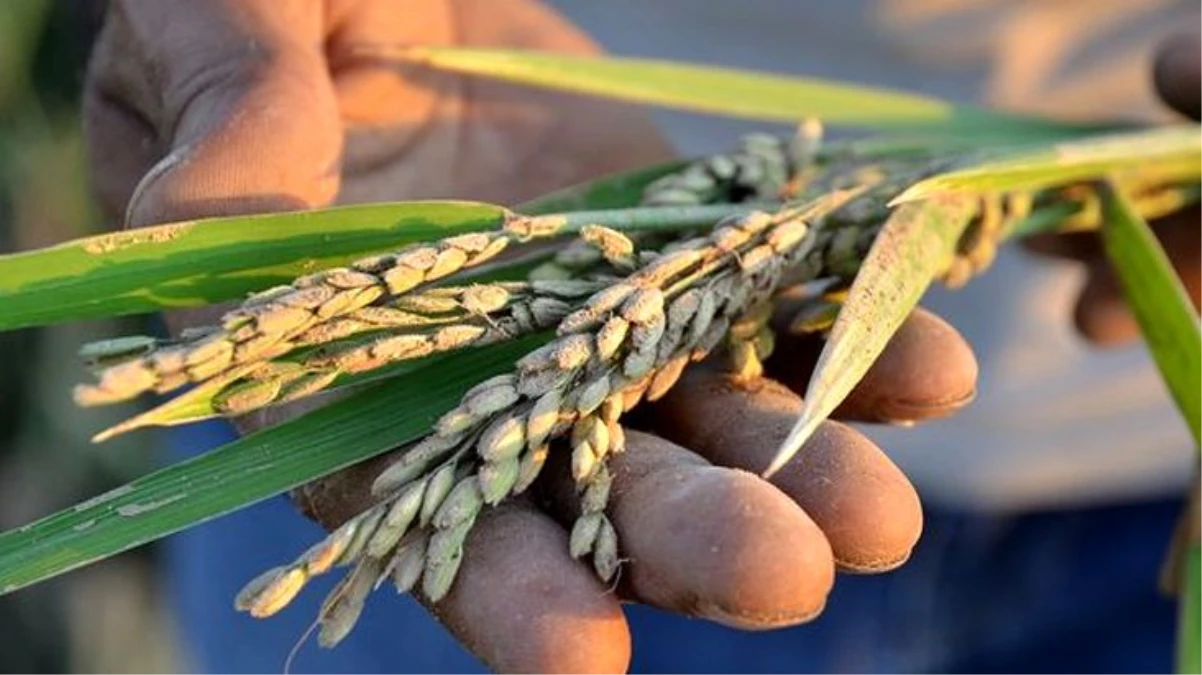
[[[194,454],[233,437],[222,423],[179,429]],[[808,626],[743,633],[629,607],[632,673],[839,675],[1129,675],[1170,673],[1176,610],[1156,577],[1177,501],[1025,515],[932,510],[914,558],[875,577],[840,577]],[[234,613],[256,574],[321,531],[284,497],[169,538],[167,575],[196,675],[280,673],[334,578],[269,620]],[[314,640],[296,675],[476,674],[486,669],[412,599],[375,593],[335,650]]]

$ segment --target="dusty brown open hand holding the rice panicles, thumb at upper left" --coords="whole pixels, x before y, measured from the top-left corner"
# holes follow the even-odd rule
[[[85,91],[101,204],[141,227],[333,202],[516,203],[671,155],[630,107],[362,56],[404,44],[597,50],[534,0],[114,0]],[[770,375],[801,387],[815,345],[786,339],[780,353]],[[976,374],[959,334],[920,310],[843,412],[942,417],[972,398]],[[837,568],[902,565],[922,512],[888,458],[837,422],[772,482],[758,478],[798,410],[775,381],[690,374],[639,416],[643,431],[614,461],[609,514],[627,561],[615,592],[567,554],[575,504],[553,464],[540,498],[481,516],[432,611],[490,668],[524,674],[625,671],[621,601],[744,629],[814,617]],[[335,526],[370,503],[387,461],[316,482],[298,504]]]

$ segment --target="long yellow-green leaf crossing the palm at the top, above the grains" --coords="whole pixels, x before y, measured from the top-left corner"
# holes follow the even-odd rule
[[[1082,130],[904,91],[653,59],[459,47],[417,47],[374,55],[532,86],[756,120],[796,124],[820,118],[867,129],[1014,139],[1064,137]]]

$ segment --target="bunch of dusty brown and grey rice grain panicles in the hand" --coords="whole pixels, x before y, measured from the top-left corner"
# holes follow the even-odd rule
[[[607,226],[587,213],[514,215],[498,232],[409,246],[257,293],[221,325],[175,344],[97,347],[91,352],[100,365],[119,363],[77,389],[77,400],[167,392],[251,365],[214,401],[240,414],[313,395],[344,375],[554,327],[549,344],[470,389],[399,454],[375,478],[371,508],[251,581],[236,604],[268,616],[309,579],[352,567],[321,610],[321,641],[333,645],[386,579],[438,602],[454,581],[480,513],[528,490],[551,452],[571,455],[579,508],[570,552],[590,557],[608,581],[620,565],[606,507],[608,460],[625,450],[621,414],[664,396],[690,363],[714,352],[725,353],[736,375],[758,377],[774,345],[774,298],[785,287],[823,281],[826,289],[791,329],[829,328],[840,289],[857,274],[893,198],[965,161],[823,155],[817,131],[809,124],[792,139],[751,136],[733,153],[689,163],[644,192],[643,205],[653,209],[740,207],[716,221],[682,231],[644,228],[638,209]],[[1196,198],[1190,190],[1141,186],[1137,203],[1148,213],[1173,210]],[[948,286],[980,274],[999,243],[1033,219],[1097,220],[1096,197],[1079,186],[982,195],[975,213],[942,274]],[[506,249],[565,233],[575,237],[526,281],[456,283]]]

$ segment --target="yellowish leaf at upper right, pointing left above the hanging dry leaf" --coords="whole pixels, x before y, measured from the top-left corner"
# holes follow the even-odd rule
[[[1143,185],[1202,179],[1202,125],[1066,141],[978,162],[918,181],[893,203],[935,195],[1034,191],[1103,177]]]

